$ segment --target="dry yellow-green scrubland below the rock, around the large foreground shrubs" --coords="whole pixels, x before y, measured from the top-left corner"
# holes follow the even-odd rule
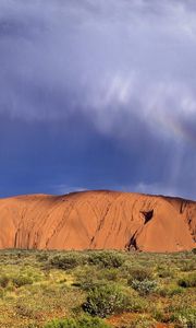
[[[64,261],[63,269],[59,268],[57,256],[60,267]],[[161,324],[162,327],[194,328],[195,274],[196,255],[192,251],[1,250],[0,327],[41,328],[52,318],[77,317],[83,314],[82,305],[95,286],[115,284],[124,291],[128,302],[124,308],[118,307],[122,313],[107,317],[111,327],[158,327]],[[150,290],[151,281],[156,283]],[[133,285],[138,288],[134,290]],[[145,288],[149,291],[144,291]]]

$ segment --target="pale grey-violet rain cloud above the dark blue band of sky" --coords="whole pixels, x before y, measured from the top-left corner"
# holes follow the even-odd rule
[[[189,177],[194,0],[1,0],[0,54],[1,114],[65,127],[83,116],[125,152],[162,141],[174,153],[168,184]]]

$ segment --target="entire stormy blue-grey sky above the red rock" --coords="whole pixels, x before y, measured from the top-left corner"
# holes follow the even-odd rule
[[[0,0],[0,197],[196,200],[196,1]]]

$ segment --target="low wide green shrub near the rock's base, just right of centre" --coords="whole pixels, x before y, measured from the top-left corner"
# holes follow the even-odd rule
[[[99,265],[103,268],[120,268],[124,262],[123,256],[115,251],[93,251],[88,256],[89,265]]]

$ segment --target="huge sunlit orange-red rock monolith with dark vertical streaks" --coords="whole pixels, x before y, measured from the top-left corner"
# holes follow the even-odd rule
[[[0,200],[0,248],[138,249],[195,247],[196,202],[117,191]]]

